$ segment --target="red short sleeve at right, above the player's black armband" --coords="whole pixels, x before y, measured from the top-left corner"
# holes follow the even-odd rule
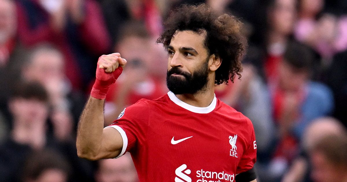
[[[250,135],[248,144],[246,145],[247,148],[243,152],[242,158],[237,165],[236,169],[236,174],[248,171],[253,168],[256,158],[257,158],[257,144],[255,140],[255,134],[254,134],[254,129],[253,129],[253,124],[252,122],[247,118],[247,123],[249,124],[249,133],[252,133]]]

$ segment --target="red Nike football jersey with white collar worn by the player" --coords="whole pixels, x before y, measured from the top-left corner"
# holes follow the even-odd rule
[[[214,97],[195,107],[168,92],[125,108],[110,126],[132,155],[139,181],[233,182],[253,168],[256,141],[251,121]]]

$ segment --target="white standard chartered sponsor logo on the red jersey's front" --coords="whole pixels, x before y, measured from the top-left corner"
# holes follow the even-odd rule
[[[189,174],[191,174],[191,170],[187,169],[186,164],[182,164],[181,166],[179,166],[176,169],[175,173],[175,182],[192,182],[191,177],[188,176]],[[196,182],[234,182],[235,180],[235,174],[228,174],[224,171],[205,171],[204,169],[196,171],[196,177],[199,178],[198,180],[196,180]]]

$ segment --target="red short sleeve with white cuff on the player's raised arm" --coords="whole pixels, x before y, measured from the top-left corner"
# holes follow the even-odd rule
[[[122,150],[116,158],[131,152],[146,140],[148,126],[148,105],[144,99],[125,108],[109,126],[116,129],[123,140]]]

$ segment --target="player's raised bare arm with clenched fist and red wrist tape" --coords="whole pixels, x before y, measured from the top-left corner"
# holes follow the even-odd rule
[[[120,154],[123,141],[120,133],[104,126],[104,102],[111,84],[121,74],[126,60],[119,53],[103,55],[98,60],[96,80],[91,97],[82,112],[77,129],[77,155],[89,160],[113,158]]]

